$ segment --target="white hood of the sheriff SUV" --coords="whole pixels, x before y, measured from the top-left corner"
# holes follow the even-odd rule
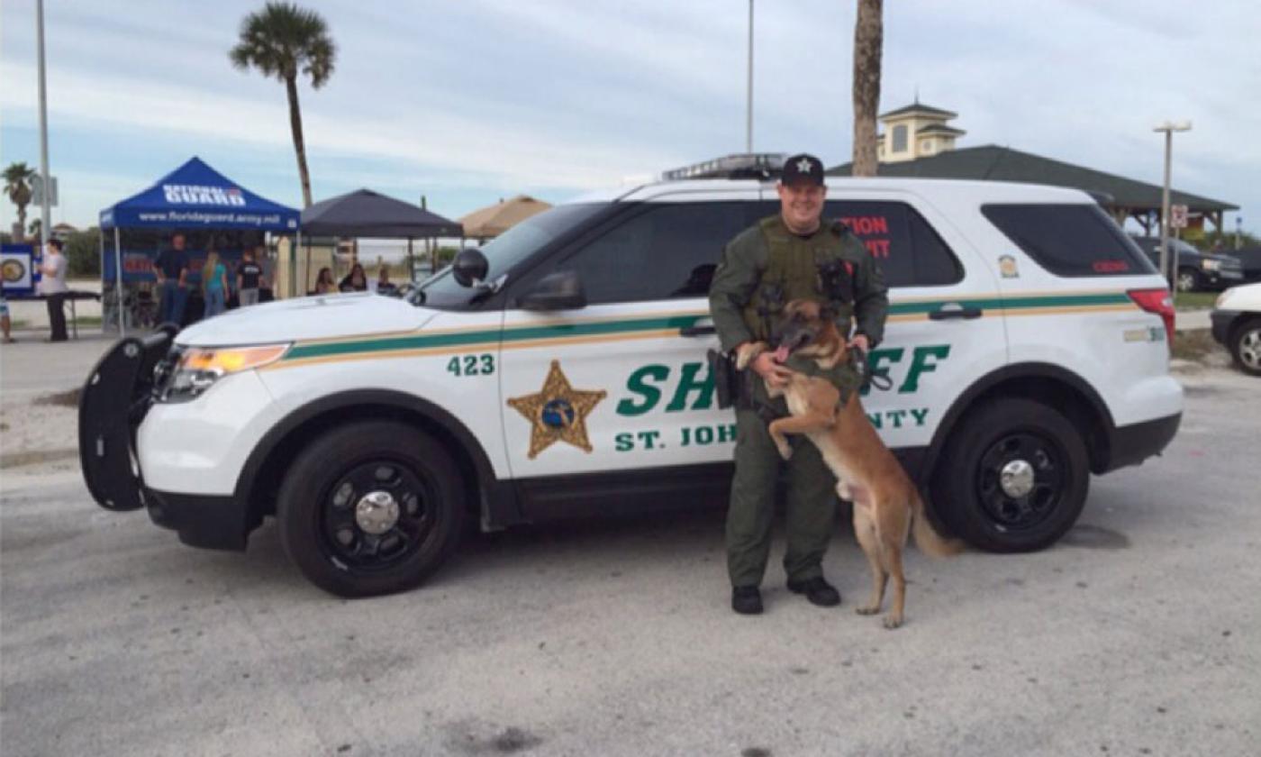
[[[227,310],[179,332],[198,347],[353,337],[422,327],[438,310],[371,293],[303,296]]]

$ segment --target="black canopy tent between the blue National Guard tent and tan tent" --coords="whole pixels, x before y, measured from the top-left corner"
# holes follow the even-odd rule
[[[412,240],[464,235],[464,227],[455,221],[371,189],[358,189],[313,204],[303,211],[301,227],[308,245],[317,236],[405,238],[409,270]]]

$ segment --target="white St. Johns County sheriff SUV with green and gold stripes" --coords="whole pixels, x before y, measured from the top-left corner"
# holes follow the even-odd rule
[[[834,179],[890,285],[892,380],[871,421],[980,549],[1055,541],[1091,473],[1178,429],[1173,309],[1146,256],[1082,192]],[[92,496],[195,546],[267,516],[315,584],[419,584],[465,519],[724,506],[734,414],[705,353],[724,244],[778,212],[772,179],[594,194],[535,216],[406,299],[309,296],[125,338],[81,401]]]

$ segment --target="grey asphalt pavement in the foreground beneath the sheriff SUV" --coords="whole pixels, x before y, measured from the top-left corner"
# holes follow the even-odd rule
[[[1187,367],[1166,454],[1029,555],[908,555],[908,623],[728,608],[720,512],[472,536],[348,602],[266,524],[245,554],[4,471],[0,739],[50,754],[1256,754],[1261,381]],[[6,373],[8,384],[8,373]]]

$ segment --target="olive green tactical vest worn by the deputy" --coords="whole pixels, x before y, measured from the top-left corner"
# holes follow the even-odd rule
[[[763,218],[758,226],[767,242],[767,266],[743,310],[754,339],[769,339],[784,305],[794,299],[830,304],[841,333],[847,334],[854,314],[854,264],[845,256],[845,225],[823,222],[810,238],[788,231],[779,216]]]

